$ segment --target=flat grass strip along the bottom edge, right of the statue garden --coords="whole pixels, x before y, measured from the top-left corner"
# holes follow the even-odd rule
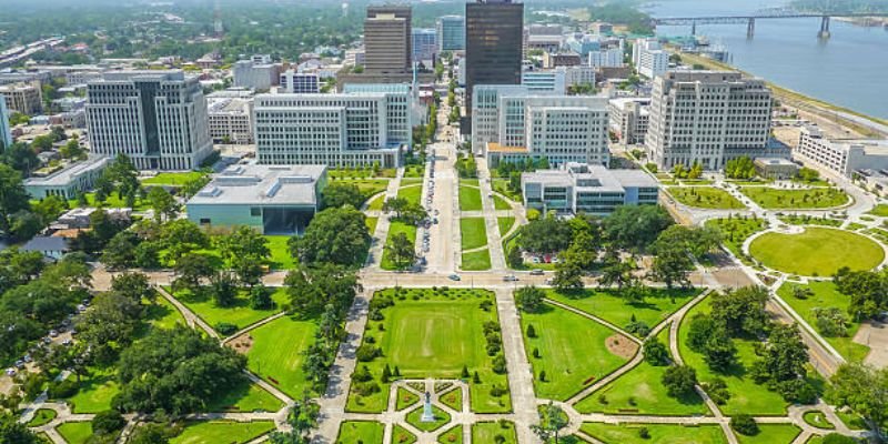
[[[650,437],[638,436],[646,427]],[[715,424],[683,426],[672,424],[604,424],[583,423],[581,431],[606,444],[723,444],[727,443],[722,427]]]

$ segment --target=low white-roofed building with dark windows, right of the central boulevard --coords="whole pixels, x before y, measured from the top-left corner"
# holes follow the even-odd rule
[[[657,181],[642,170],[608,170],[598,164],[566,163],[557,170],[522,173],[524,205],[545,213],[607,215],[619,205],[656,204]]]

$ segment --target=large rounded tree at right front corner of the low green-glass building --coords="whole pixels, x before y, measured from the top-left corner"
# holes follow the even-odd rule
[[[364,262],[371,240],[364,213],[346,205],[315,214],[305,234],[292,238],[289,245],[301,263],[332,262],[355,266]]]

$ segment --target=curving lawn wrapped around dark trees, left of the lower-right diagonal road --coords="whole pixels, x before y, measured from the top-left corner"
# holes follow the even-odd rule
[[[688,324],[690,319],[697,313],[709,312],[709,299],[700,302],[690,309],[687,315],[682,320],[682,325],[678,329],[678,350],[685,364],[692,366],[697,371],[697,380],[699,382],[709,382],[715,377],[720,377],[727,384],[727,390],[730,393],[730,398],[722,405],[722,412],[725,415],[736,415],[738,413],[746,413],[750,415],[785,415],[787,402],[776,392],[767,390],[764,385],[756,384],[749,375],[749,369],[758,357],[755,354],[755,345],[757,341],[735,339],[734,344],[737,346],[738,364],[729,369],[727,373],[715,373],[709,370],[709,365],[703,359],[700,353],[692,351],[687,346]]]

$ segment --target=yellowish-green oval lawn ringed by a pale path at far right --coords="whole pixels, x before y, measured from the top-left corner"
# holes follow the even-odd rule
[[[765,266],[805,276],[830,276],[842,266],[871,270],[885,259],[881,245],[868,238],[814,226],[800,234],[765,233],[749,253]]]

